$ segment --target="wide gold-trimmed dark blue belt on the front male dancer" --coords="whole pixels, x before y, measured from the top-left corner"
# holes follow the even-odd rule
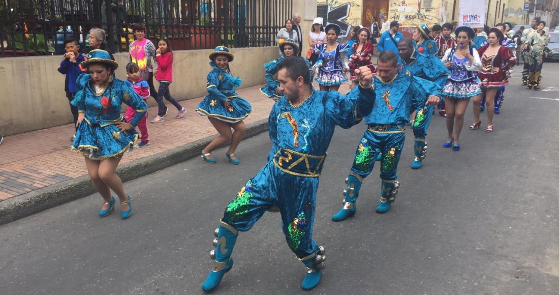
[[[324,163],[324,156],[313,156],[292,151],[287,148],[280,148],[274,154],[273,163],[281,171],[291,175],[303,177],[318,177]]]

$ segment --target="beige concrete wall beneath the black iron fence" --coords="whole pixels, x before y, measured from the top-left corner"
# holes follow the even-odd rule
[[[212,50],[174,51],[173,83],[170,92],[177,100],[206,94],[206,75],[210,71],[208,54]],[[243,79],[241,87],[263,84],[262,65],[277,58],[277,48],[231,49],[235,55],[231,71]],[[116,76],[126,77],[126,53],[115,54],[119,63]],[[60,55],[54,57],[0,58],[0,134],[12,135],[72,122],[64,93],[64,75],[56,69]],[[155,87],[158,83],[155,82]],[[150,106],[154,99],[148,100]]]

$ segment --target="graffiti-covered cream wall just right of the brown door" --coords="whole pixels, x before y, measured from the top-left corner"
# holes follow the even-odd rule
[[[439,24],[440,0],[391,0],[389,19],[402,27]]]

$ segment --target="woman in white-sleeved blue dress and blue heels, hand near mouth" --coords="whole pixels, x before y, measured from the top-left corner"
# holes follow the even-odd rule
[[[442,58],[442,62],[451,70],[451,75],[442,91],[447,107],[448,131],[448,139],[443,143],[443,147],[452,147],[452,150],[457,152],[460,150],[460,133],[470,99],[481,93],[479,79],[475,74],[481,70],[481,60],[477,50],[470,46],[470,41],[476,35],[471,27],[457,27],[454,34],[456,34],[457,45],[447,49]]]

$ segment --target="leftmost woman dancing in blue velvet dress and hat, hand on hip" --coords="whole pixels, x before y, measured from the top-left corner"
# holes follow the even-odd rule
[[[78,77],[71,102],[78,108],[78,131],[72,149],[85,157],[91,182],[105,200],[99,216],[111,213],[116,203],[112,190],[121,202],[121,218],[126,219],[132,214],[131,199],[115,171],[122,154],[138,143],[140,136],[134,128],[146,115],[148,105],[129,83],[112,75],[119,64],[111,60],[107,51],[91,50],[87,58],[81,65],[88,74]],[[123,102],[136,111],[130,122],[120,114]]]

